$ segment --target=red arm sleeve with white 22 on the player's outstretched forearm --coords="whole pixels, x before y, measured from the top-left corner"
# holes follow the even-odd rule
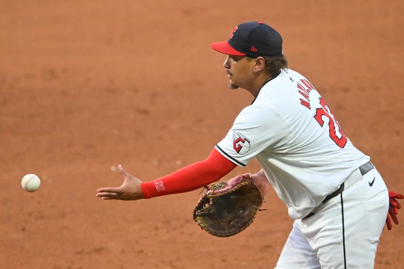
[[[181,168],[154,181],[142,182],[142,194],[147,199],[196,190],[221,179],[236,166],[214,148],[208,158],[201,162]]]

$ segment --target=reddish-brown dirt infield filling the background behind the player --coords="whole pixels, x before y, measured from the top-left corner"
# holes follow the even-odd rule
[[[244,232],[192,221],[198,191],[121,202],[122,164],[153,180],[201,160],[252,98],[227,89],[212,41],[264,21],[290,67],[321,92],[345,134],[404,192],[402,1],[1,1],[0,268],[272,268],[291,229],[271,189]],[[239,173],[255,172],[252,162]],[[20,180],[34,173],[37,192]],[[399,226],[375,268],[398,268]],[[371,225],[371,224],[369,224]]]

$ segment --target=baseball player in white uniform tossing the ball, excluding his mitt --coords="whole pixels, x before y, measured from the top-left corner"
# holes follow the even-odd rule
[[[389,209],[386,185],[314,85],[287,68],[281,35],[247,22],[211,46],[227,55],[229,88],[250,92],[251,105],[205,160],[149,182],[119,166],[122,186],[96,196],[136,200],[192,191],[255,157],[262,169],[252,179],[263,196],[272,185],[295,220],[276,268],[373,268]]]

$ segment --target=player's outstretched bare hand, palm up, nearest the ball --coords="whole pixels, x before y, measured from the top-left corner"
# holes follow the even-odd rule
[[[118,166],[118,171],[124,179],[121,187],[100,188],[97,190],[97,194],[95,196],[101,197],[105,200],[143,199],[141,191],[142,182],[126,172],[121,165]]]

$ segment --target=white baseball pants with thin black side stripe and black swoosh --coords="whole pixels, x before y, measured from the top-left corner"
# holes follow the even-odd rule
[[[359,169],[353,185],[324,203],[310,218],[296,220],[277,269],[368,269],[374,267],[389,198],[376,169]]]

